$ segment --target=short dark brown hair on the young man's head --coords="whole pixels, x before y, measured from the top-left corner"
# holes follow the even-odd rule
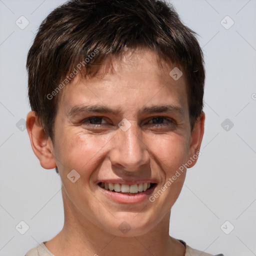
[[[203,107],[205,76],[195,34],[182,24],[173,6],[162,0],[67,1],[42,21],[28,51],[31,109],[53,141],[58,91],[71,80],[73,70],[78,71],[77,64],[82,63],[79,73],[88,75],[92,66],[109,56],[149,48],[160,59],[182,67],[192,131]],[[96,53],[93,57],[92,52]]]

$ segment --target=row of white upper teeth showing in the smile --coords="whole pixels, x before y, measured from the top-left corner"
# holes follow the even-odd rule
[[[119,183],[100,183],[101,187],[104,187],[107,190],[114,190],[115,192],[123,192],[123,193],[137,193],[145,191],[150,187],[150,183],[139,183],[139,184],[133,184],[133,185],[127,185],[127,184],[119,184]]]

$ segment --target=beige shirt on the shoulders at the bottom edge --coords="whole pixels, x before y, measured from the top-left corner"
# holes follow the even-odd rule
[[[185,256],[214,256],[212,254],[209,254],[209,253],[206,253],[206,252],[203,252],[200,250],[192,249],[184,241],[182,241],[182,240],[179,240],[179,241],[181,243],[183,243],[186,248]],[[27,251],[25,256],[54,256],[44,245],[45,242],[46,241],[41,242],[37,247],[34,247],[34,248],[30,249],[29,251]],[[217,254],[215,256],[224,256],[224,255]]]

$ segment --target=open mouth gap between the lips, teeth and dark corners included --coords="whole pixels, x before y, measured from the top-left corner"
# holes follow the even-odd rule
[[[116,193],[122,193],[127,195],[135,195],[144,193],[145,191],[149,192],[154,189],[157,183],[139,183],[134,185],[127,185],[127,184],[119,184],[119,183],[104,183],[99,182],[97,183],[98,186],[101,188],[116,192]]]

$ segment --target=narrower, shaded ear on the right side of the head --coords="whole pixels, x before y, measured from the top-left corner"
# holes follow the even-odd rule
[[[188,150],[187,168],[191,168],[197,161],[198,153],[200,150],[203,132],[204,132],[205,113],[202,111],[201,115],[197,118],[190,137],[190,144]],[[189,161],[190,160],[190,161]],[[191,162],[191,164],[190,164]]]

